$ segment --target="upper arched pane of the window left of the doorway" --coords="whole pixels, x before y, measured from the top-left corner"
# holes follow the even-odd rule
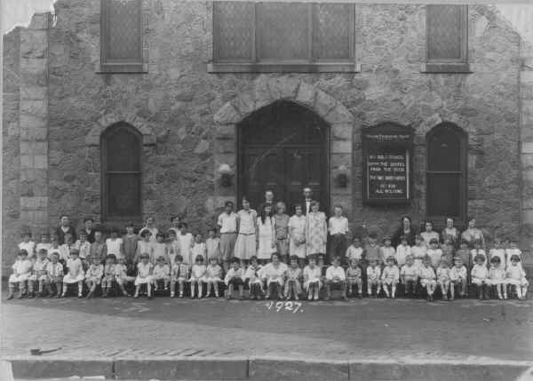
[[[139,137],[127,128],[110,131],[106,137],[107,171],[140,171]]]

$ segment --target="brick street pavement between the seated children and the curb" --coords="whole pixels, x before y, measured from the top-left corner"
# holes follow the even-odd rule
[[[1,353],[62,358],[283,355],[328,359],[533,358],[531,301],[267,302],[33,299],[4,302]],[[505,339],[503,339],[505,338]]]

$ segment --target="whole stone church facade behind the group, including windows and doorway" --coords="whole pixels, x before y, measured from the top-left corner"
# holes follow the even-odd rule
[[[309,5],[308,20],[314,21],[305,24],[312,41],[307,60],[301,59],[306,52],[298,52],[301,44],[290,49],[266,37],[261,22],[276,10],[240,5],[251,7],[257,21],[251,23],[248,58],[228,52],[235,46],[248,52],[249,41],[232,40],[251,36],[248,24],[235,19],[244,12],[240,6],[113,2],[118,8],[100,0],[60,0],[55,20],[36,14],[28,28],[4,36],[4,273],[21,230],[28,227],[38,236],[62,214],[76,226],[85,216],[120,226],[130,219],[140,225],[153,215],[163,227],[180,215],[193,230],[205,231],[227,200],[258,194],[259,187],[274,188],[279,198],[295,197],[305,183],[316,187],[322,210],[342,204],[354,227],[364,223],[391,234],[402,214],[416,225],[435,219],[437,226],[447,214],[458,226],[475,216],[488,237],[521,237],[529,248],[532,67],[524,59],[526,44],[491,7],[464,6],[453,13],[460,27],[451,34],[460,40],[457,60],[439,61],[431,60],[439,51],[429,40],[438,31],[428,32],[426,5],[345,4],[349,15],[340,31],[320,29],[323,10]],[[139,6],[133,16],[139,17],[137,32],[127,29],[131,25],[116,28],[121,24],[113,16],[120,15],[121,4]],[[343,17],[339,10],[324,12],[334,20]],[[280,33],[292,33],[289,24],[278,26]],[[338,52],[324,44],[328,33],[346,36]],[[114,46],[123,44],[126,55],[130,43],[139,49],[134,46],[133,59],[121,61]],[[276,59],[285,50],[298,62]],[[286,123],[295,129],[294,144],[273,139],[261,151],[260,142],[243,138],[241,130],[256,125],[284,133],[275,127],[283,121],[268,119],[274,113],[268,116],[266,107],[284,107],[279,115],[294,121]],[[307,141],[300,119],[319,123],[320,139]],[[408,202],[365,201],[362,131],[383,123],[413,131]],[[432,131],[457,132],[449,138],[457,138],[457,153],[464,153],[457,154],[457,171],[430,168]],[[447,147],[443,139],[438,147]],[[244,173],[272,152],[259,173]],[[316,155],[321,159],[313,161]],[[279,177],[294,169],[283,165],[297,165],[298,173],[306,168],[307,175]],[[434,180],[438,176],[442,181]],[[435,204],[442,185],[457,191],[458,201],[443,199],[453,213],[442,212],[438,197]]]

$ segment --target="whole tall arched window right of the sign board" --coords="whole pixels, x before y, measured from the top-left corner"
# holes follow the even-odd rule
[[[466,134],[453,123],[441,123],[426,135],[426,215],[440,220],[466,218]]]

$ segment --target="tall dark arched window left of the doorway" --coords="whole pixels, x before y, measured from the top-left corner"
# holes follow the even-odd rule
[[[116,123],[102,134],[102,218],[141,217],[142,137],[128,123]]]

